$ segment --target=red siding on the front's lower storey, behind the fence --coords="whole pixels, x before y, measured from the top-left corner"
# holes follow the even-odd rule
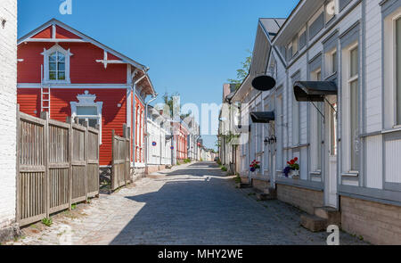
[[[102,145],[100,147],[100,165],[111,164],[111,130],[123,135],[123,124],[127,123],[126,89],[56,89],[51,90],[51,119],[66,121],[71,115],[70,102],[78,102],[77,95],[88,90],[96,95],[95,102],[102,102]],[[33,116],[40,116],[40,89],[18,89],[20,111]],[[118,107],[118,104],[121,107]],[[34,111],[37,114],[34,114]]]

